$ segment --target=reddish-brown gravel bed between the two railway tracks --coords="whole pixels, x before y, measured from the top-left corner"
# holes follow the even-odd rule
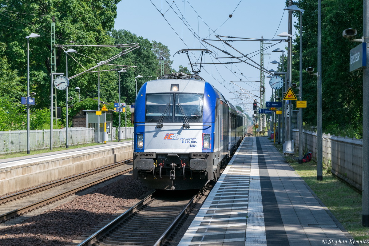
[[[84,194],[65,204],[0,229],[0,246],[63,246],[97,223],[136,204],[148,189],[132,175]]]

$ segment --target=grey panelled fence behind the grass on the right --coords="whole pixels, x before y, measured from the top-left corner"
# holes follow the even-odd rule
[[[299,146],[299,130],[292,130],[295,147]],[[317,133],[303,131],[303,153],[317,156]],[[362,139],[323,134],[323,165],[339,178],[362,190]]]

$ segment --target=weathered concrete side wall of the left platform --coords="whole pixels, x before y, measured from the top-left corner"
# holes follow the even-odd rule
[[[132,158],[131,145],[96,148],[48,156],[49,160],[37,160],[0,169],[0,195],[42,183],[62,179],[90,169]],[[82,153],[81,153],[82,152]],[[66,154],[69,154],[66,156]],[[35,158],[37,159],[37,158]]]

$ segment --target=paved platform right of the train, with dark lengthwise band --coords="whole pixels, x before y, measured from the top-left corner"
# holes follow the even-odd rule
[[[349,245],[350,239],[268,138],[246,137],[178,246]]]

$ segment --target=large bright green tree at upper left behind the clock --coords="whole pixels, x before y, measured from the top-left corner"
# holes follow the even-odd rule
[[[49,106],[50,95],[50,23],[55,17],[56,44],[112,44],[113,39],[108,31],[114,26],[114,18],[117,15],[117,3],[120,0],[10,0],[2,1],[0,22],[3,25],[0,33],[2,49],[1,62],[6,60],[9,67],[17,77],[13,82],[20,82],[22,88],[15,94],[25,94],[27,80],[27,39],[26,36],[35,32],[41,37],[30,38],[30,87],[37,93],[37,108]],[[13,12],[10,12],[13,11]],[[21,14],[27,13],[27,14]],[[65,48],[64,48],[65,49]],[[103,60],[111,55],[108,48],[76,48],[84,55],[97,60]],[[95,61],[85,56],[73,54],[78,62],[85,67],[95,65]],[[72,59],[69,59],[72,60]],[[0,65],[1,66],[1,65]],[[57,72],[64,72],[65,53],[62,48],[56,48]],[[2,68],[2,67],[1,67]],[[68,64],[69,75],[74,75],[85,70],[76,62]],[[1,69],[0,77],[4,70]],[[12,74],[13,75],[13,74]],[[14,75],[13,75],[14,77]],[[107,76],[108,77],[108,76]],[[3,82],[3,80],[1,79]],[[97,74],[86,74],[70,80],[70,88],[81,88],[82,93],[97,94]],[[107,78],[111,81],[111,78]],[[92,83],[91,83],[92,82]],[[104,84],[105,85],[105,84]],[[110,86],[107,84],[106,86]],[[103,86],[104,87],[104,86]],[[16,88],[16,87],[15,87]],[[102,93],[106,93],[102,90]],[[58,91],[58,105],[65,104],[65,91]],[[106,93],[107,96],[114,96]],[[116,93],[115,93],[116,94]],[[76,97],[76,91],[71,95]],[[105,95],[104,95],[105,96]],[[17,98],[15,97],[15,98]],[[18,98],[17,98],[18,99]]]

